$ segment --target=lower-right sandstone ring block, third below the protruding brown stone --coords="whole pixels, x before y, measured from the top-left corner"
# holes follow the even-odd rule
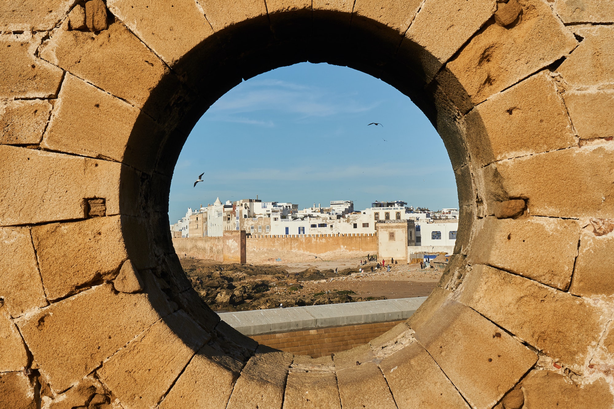
[[[537,362],[529,348],[454,301],[443,303],[414,337],[474,408],[492,408]]]

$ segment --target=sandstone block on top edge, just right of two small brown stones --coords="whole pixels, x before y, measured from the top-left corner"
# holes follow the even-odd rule
[[[171,66],[213,34],[203,9],[195,1],[109,0],[107,6]]]

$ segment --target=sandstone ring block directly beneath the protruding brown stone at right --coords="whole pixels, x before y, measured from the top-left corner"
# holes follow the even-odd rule
[[[580,225],[553,217],[486,217],[468,262],[486,264],[567,290],[578,255]]]

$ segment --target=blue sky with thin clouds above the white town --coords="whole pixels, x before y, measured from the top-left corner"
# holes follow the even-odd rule
[[[169,219],[216,197],[256,195],[299,208],[331,200],[354,200],[356,209],[375,200],[458,206],[443,142],[408,97],[363,72],[311,63],[244,81],[205,112],[175,166]]]

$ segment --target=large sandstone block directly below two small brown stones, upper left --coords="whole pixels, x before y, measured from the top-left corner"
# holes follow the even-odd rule
[[[138,108],[168,74],[163,61],[122,23],[113,23],[98,35],[55,30],[42,45],[41,56]]]

